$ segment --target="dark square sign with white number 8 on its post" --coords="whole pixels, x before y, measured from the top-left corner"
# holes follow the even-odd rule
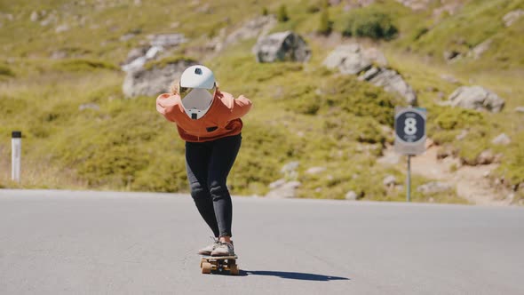
[[[425,108],[395,108],[395,151],[408,155],[406,201],[411,201],[411,156],[425,152]]]

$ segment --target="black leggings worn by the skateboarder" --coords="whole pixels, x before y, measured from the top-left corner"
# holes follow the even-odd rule
[[[215,237],[232,236],[233,204],[226,179],[241,141],[242,135],[238,134],[206,142],[186,142],[191,196]]]

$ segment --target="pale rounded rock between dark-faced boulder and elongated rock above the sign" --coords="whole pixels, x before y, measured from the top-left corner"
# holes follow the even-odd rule
[[[340,73],[348,75],[357,75],[371,68],[371,60],[364,55],[360,44],[337,46],[329,53],[323,64],[326,68],[337,68]]]

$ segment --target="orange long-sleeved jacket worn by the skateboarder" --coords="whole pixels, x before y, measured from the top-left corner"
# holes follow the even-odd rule
[[[227,92],[215,94],[211,107],[202,118],[194,120],[187,116],[179,95],[163,93],[156,98],[156,110],[168,121],[177,124],[182,140],[202,142],[218,140],[242,132],[242,116],[251,108],[251,101],[241,95],[234,99]]]

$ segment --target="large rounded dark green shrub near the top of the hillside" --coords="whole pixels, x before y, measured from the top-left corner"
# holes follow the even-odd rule
[[[391,40],[398,33],[391,17],[384,12],[361,9],[350,14],[343,35]]]

